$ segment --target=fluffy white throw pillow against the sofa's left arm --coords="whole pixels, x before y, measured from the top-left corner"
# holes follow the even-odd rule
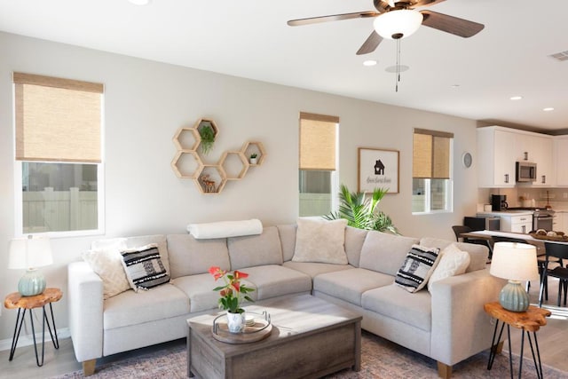
[[[122,267],[121,249],[126,249],[126,244],[123,242],[104,249],[87,250],[82,254],[83,260],[103,280],[104,299],[130,289],[130,283]]]

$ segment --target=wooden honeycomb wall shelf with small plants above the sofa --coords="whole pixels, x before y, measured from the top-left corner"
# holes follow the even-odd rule
[[[245,178],[249,168],[260,166],[266,158],[264,145],[259,141],[247,141],[239,151],[225,151],[217,164],[204,163],[203,141],[200,130],[210,126],[217,139],[219,129],[211,119],[201,118],[193,127],[181,127],[174,134],[173,143],[177,153],[171,161],[171,169],[177,178],[193,179],[203,194],[218,194],[225,189],[227,181]],[[256,154],[256,163],[249,161]]]

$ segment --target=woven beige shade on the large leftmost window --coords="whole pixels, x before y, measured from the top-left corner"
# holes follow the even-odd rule
[[[101,162],[103,85],[14,73],[16,159]]]

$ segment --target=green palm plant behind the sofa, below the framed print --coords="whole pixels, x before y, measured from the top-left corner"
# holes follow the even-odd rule
[[[347,225],[352,227],[399,234],[390,217],[382,210],[376,209],[387,192],[387,188],[375,188],[372,196],[367,197],[365,193],[351,193],[347,186],[341,185],[339,209],[324,218],[327,220],[344,218],[347,220]]]

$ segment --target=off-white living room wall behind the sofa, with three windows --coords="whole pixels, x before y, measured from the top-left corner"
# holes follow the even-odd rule
[[[0,296],[15,291],[23,273],[5,269],[6,247],[15,229],[12,71],[105,84],[106,234],[52,242],[55,263],[43,271],[48,286],[64,292],[53,307],[58,328],[67,328],[67,264],[80,259],[95,238],[184,233],[188,223],[248,217],[258,217],[264,225],[293,223],[298,212],[300,111],[340,117],[340,178],[353,190],[358,147],[400,151],[400,193],[386,196],[380,208],[403,234],[454,239],[450,226],[475,213],[475,164],[466,170],[460,163],[464,151],[475,152],[476,124],[471,120],[4,33],[0,51]],[[405,91],[412,91],[412,83],[392,96],[405,96]],[[179,179],[170,169],[176,153],[171,138],[177,128],[201,117],[214,119],[220,129],[211,162],[225,150],[240,149],[247,139],[262,141],[267,151],[262,166],[229,182],[219,195],[200,194],[192,180]],[[411,215],[414,127],[454,132],[452,214]],[[4,309],[0,341],[12,337],[15,318],[15,311]]]

